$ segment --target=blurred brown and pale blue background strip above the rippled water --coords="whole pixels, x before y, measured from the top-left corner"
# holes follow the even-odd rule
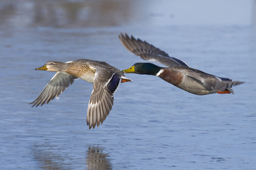
[[[1,1],[1,26],[251,25],[255,1]]]

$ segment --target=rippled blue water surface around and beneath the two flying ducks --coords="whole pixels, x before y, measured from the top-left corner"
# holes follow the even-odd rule
[[[138,20],[132,24],[134,15],[109,25],[90,21],[88,27],[67,20],[61,25],[58,19],[59,27],[29,17],[18,22],[19,12],[30,9],[31,2],[17,14],[6,14],[0,29],[1,169],[255,169],[253,25],[146,26],[141,18],[141,25]],[[235,95],[196,96],[155,76],[126,74],[133,82],[119,86],[104,124],[91,130],[86,109],[92,84],[84,80],[49,104],[31,108],[54,75],[35,68],[49,60],[95,59],[120,70],[143,62],[122,46],[120,32],[195,69],[246,83],[233,87]]]

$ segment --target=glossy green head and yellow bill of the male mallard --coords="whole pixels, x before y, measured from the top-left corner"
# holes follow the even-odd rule
[[[149,62],[137,62],[129,69],[123,70],[123,73],[136,73],[136,74],[147,74],[156,75],[162,69],[162,67],[156,66]]]

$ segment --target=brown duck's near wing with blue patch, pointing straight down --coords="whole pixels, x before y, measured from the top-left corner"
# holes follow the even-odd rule
[[[97,67],[93,80],[93,91],[87,111],[87,125],[89,129],[100,126],[112,109],[114,92],[117,90],[121,78],[109,69]]]

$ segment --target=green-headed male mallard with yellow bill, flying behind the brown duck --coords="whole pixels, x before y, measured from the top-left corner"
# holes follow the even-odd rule
[[[129,37],[126,33],[125,35],[121,33],[119,39],[127,50],[142,59],[156,61],[167,66],[159,67],[152,63],[135,63],[129,69],[123,70],[123,73],[155,75],[195,95],[208,95],[216,92],[217,94],[234,94],[232,86],[244,83],[192,69],[180,59],[170,57],[146,41],[135,39],[133,36]]]

